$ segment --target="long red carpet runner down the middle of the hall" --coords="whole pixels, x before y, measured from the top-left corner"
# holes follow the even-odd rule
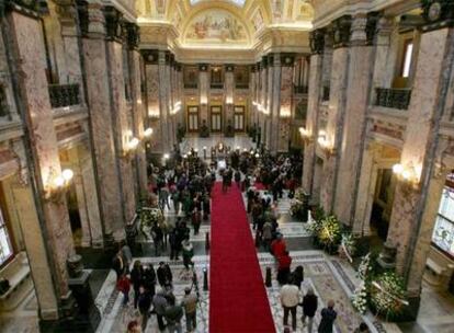
[[[241,192],[213,188],[209,332],[275,332]]]

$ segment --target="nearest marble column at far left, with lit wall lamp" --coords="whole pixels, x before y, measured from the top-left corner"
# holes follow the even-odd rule
[[[38,251],[35,257],[37,262],[33,263],[34,267],[37,267],[37,271],[33,273],[34,278],[48,278],[48,282],[42,282],[39,287],[43,287],[43,294],[38,294],[38,297],[45,299],[49,313],[41,313],[41,318],[55,320],[60,317],[55,306],[60,307],[61,302],[69,299],[71,295],[68,287],[66,261],[75,254],[75,249],[65,196],[60,191],[56,192],[55,185],[56,177],[61,175],[61,166],[45,76],[44,36],[38,19],[16,11],[8,15],[8,24],[12,32],[10,37],[14,45],[13,51],[16,59],[20,59],[16,62],[19,73],[16,89],[20,94],[23,122],[27,128],[26,141],[32,154],[30,157],[31,170],[33,170],[32,176],[36,184],[35,202],[38,207],[39,221],[37,222],[36,215],[30,211],[32,210],[30,207],[35,206],[30,193],[24,195],[26,203],[18,200],[18,204],[30,205],[20,210],[24,210],[23,215],[29,214],[30,220],[24,223],[30,223],[35,231],[33,237],[36,240],[30,240],[36,245],[32,249]],[[53,194],[52,197],[50,194]],[[27,231],[25,239],[32,237]],[[39,243],[42,237],[46,241],[44,245]],[[33,252],[32,249],[30,252]],[[43,273],[43,276],[38,276],[39,273]]]

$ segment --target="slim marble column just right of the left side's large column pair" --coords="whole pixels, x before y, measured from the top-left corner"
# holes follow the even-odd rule
[[[128,44],[128,70],[129,70],[129,85],[130,85],[130,97],[133,105],[133,133],[137,138],[144,138],[144,123],[145,123],[145,103],[141,97],[140,90],[140,54],[138,51],[138,41],[139,41],[139,27],[134,23],[128,23],[126,25],[127,32],[127,44]],[[146,138],[144,138],[146,139]],[[145,194],[147,192],[147,157],[145,153],[145,143],[140,145],[137,148],[137,187],[138,195]]]

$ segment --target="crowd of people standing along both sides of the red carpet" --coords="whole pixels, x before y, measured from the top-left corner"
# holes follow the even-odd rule
[[[287,190],[285,193],[288,198],[295,193],[297,180],[300,179],[300,160],[297,156],[272,157],[264,149],[240,151],[225,147],[223,152],[226,152],[225,163],[218,165],[217,160],[207,164],[194,150],[182,156],[175,149],[164,166],[150,169],[148,204],[162,211],[173,209],[175,216],[174,223],[166,221],[151,227],[155,254],[161,255],[169,245],[170,261],[180,260],[181,255],[185,269],[193,269],[194,249],[189,227],[192,226],[192,234],[196,236],[202,221],[209,218],[211,193],[217,176],[223,182],[223,192],[227,192],[235,182],[235,186],[245,192],[247,197],[247,211],[252,229],[256,230],[256,245],[275,257],[275,278],[281,285],[280,300],[285,332],[296,332],[297,308],[300,307],[300,320],[310,333],[318,310],[318,297],[311,287],[303,292],[304,267],[297,265],[292,271],[292,256],[280,231],[277,211],[277,203],[284,197],[284,190]],[[265,191],[259,191],[259,186]],[[123,249],[114,259],[117,287],[124,295],[123,305],[132,303],[141,318],[140,322],[129,323],[128,332],[145,332],[151,314],[157,315],[159,330],[167,329],[170,333],[182,332],[181,321],[185,315],[186,332],[193,332],[200,301],[198,292],[193,290],[193,286],[186,287],[184,296],[178,301],[173,294],[172,272],[168,263],[160,262],[155,272],[152,264],[135,261],[129,272],[130,257],[126,257]],[[134,294],[133,301],[129,300],[130,289]],[[288,317],[292,317],[291,325]],[[332,332],[337,318],[334,301],[328,301],[327,307],[321,309],[320,317],[318,332]],[[368,332],[364,331],[367,328],[362,323],[359,328],[362,331],[357,332]]]

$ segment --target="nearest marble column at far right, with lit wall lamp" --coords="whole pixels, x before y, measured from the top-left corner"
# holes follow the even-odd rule
[[[421,35],[400,158],[412,179],[399,177],[397,182],[387,237],[387,242],[397,248],[396,269],[415,297],[419,296],[443,182],[434,176],[434,157],[454,55],[454,32],[444,26],[429,25]]]

